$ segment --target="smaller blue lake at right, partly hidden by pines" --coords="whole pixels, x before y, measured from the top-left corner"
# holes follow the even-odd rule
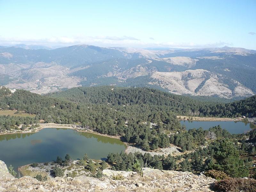
[[[188,120],[181,120],[180,121],[181,125],[185,125],[186,129],[193,129],[196,128],[198,129],[199,127],[202,127],[204,130],[209,129],[210,127],[213,126],[218,126],[222,129],[226,129],[230,133],[246,133],[250,131],[254,125],[243,122],[243,121],[188,121]]]

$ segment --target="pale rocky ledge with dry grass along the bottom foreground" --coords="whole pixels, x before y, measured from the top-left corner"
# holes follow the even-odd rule
[[[103,170],[103,177],[96,179],[87,176],[74,178],[55,177],[40,182],[32,177],[14,178],[6,164],[0,160],[0,192],[169,192],[169,191],[211,191],[215,181],[191,172],[164,171],[143,168],[143,176],[136,172]]]

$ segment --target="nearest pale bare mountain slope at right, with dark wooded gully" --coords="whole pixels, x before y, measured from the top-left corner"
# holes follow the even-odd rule
[[[155,72],[149,84],[156,84],[175,94],[215,96],[230,99],[232,97],[250,97],[252,90],[241,83],[233,81],[235,88],[223,83],[223,77],[204,69],[186,70],[182,72]]]

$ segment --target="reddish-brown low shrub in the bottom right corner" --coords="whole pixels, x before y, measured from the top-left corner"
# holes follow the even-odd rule
[[[214,190],[217,191],[256,191],[255,179],[228,178],[214,183]]]

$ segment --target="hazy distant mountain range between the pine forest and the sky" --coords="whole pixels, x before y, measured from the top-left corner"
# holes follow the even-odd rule
[[[151,87],[237,99],[256,93],[256,51],[244,48],[135,49],[74,45],[0,46],[0,85],[36,93],[77,86]]]

